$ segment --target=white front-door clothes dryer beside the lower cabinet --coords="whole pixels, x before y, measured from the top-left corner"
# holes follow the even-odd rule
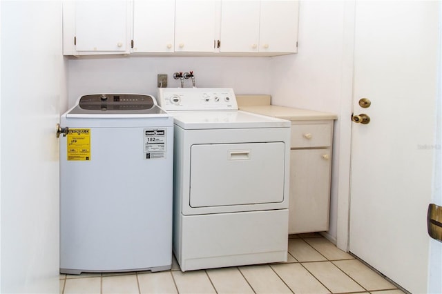
[[[182,271],[287,261],[290,122],[232,89],[159,88],[174,117],[173,251]]]

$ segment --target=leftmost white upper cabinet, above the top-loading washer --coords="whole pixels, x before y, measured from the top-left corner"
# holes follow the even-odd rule
[[[64,54],[130,52],[130,1],[65,1]]]

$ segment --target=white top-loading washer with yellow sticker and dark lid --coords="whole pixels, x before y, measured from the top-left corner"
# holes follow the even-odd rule
[[[151,95],[85,95],[60,124],[60,273],[171,268],[173,118]]]

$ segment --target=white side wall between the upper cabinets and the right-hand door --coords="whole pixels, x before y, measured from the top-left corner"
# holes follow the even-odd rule
[[[350,120],[346,115],[351,111],[352,99],[352,66],[347,65],[352,61],[352,52],[345,43],[347,30],[352,28],[345,19],[347,6],[345,1],[301,1],[298,54],[276,57],[271,63],[272,104],[338,115],[334,128],[328,233],[335,242],[338,233],[338,188],[348,193],[348,186],[345,182],[339,185],[338,177],[341,175],[341,179],[348,179],[348,169],[342,171],[338,164],[340,153],[349,148]]]

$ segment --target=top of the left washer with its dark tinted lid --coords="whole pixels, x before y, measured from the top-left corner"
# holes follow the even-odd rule
[[[66,117],[167,117],[151,95],[94,94],[81,96]]]

